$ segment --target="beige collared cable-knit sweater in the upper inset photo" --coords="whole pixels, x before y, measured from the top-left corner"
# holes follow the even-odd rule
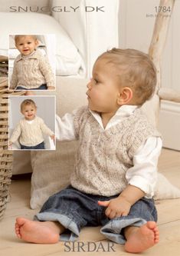
[[[54,74],[47,57],[39,50],[28,56],[18,55],[15,58],[10,89],[17,86],[27,89],[38,88],[43,84],[47,84],[47,87],[55,86]]]

